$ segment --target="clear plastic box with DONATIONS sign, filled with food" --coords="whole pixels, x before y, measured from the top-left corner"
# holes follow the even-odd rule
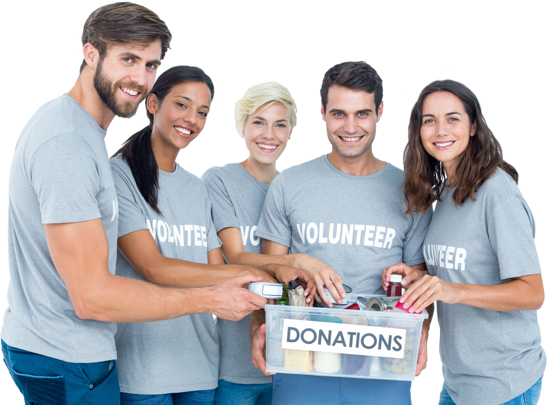
[[[377,297],[352,294],[357,297]],[[266,371],[415,379],[421,314],[265,305]]]

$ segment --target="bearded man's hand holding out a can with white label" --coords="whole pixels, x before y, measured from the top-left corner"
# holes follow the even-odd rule
[[[261,281],[261,278],[245,274],[232,277],[212,287],[205,287],[208,305],[206,312],[229,321],[238,321],[254,310],[262,308],[266,304],[266,298],[241,287],[252,281]]]

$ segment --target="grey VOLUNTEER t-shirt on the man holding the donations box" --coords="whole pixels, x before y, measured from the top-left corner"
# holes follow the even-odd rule
[[[403,214],[403,179],[391,163],[348,175],[326,153],[287,167],[270,184],[255,235],[322,260],[353,291],[383,295],[383,268],[424,262],[431,215]]]

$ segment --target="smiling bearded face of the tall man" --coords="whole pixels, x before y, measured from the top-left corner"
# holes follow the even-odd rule
[[[113,45],[97,63],[93,84],[104,105],[118,118],[137,115],[161,65],[161,43]]]

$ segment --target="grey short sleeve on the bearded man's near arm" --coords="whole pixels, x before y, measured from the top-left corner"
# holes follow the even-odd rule
[[[38,196],[42,223],[101,218],[97,202],[100,167],[93,148],[82,136],[67,133],[44,142],[32,155],[27,170]]]

